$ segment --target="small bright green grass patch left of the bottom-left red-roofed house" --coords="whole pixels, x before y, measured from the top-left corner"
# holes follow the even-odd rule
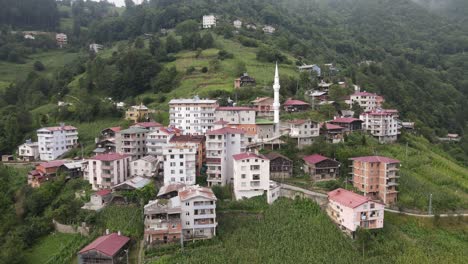
[[[80,235],[54,233],[41,238],[26,252],[26,261],[30,264],[46,263],[52,256],[60,253],[65,245],[77,237],[80,237]]]

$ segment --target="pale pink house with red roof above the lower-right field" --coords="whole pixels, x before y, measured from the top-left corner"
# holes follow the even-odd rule
[[[385,205],[342,188],[328,193],[328,216],[347,233],[383,228]]]

